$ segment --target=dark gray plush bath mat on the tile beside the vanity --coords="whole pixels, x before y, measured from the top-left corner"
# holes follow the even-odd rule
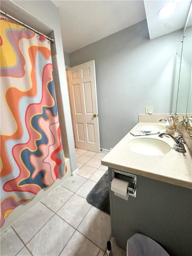
[[[109,175],[106,171],[87,195],[87,202],[110,215]]]

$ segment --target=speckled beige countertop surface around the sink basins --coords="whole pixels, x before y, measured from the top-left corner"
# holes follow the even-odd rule
[[[162,123],[138,123],[131,131],[142,130],[142,125]],[[164,132],[164,131],[161,131]],[[156,138],[167,142],[171,150],[160,156],[141,155],[131,151],[128,143],[136,138]],[[173,148],[174,141],[170,137],[160,138],[158,135],[133,136],[128,133],[102,160],[101,164],[138,174],[151,179],[175,184],[192,189],[192,152],[185,144],[186,153],[179,153]]]

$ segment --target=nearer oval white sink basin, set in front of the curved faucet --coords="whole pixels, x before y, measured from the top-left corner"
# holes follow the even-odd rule
[[[171,147],[164,141],[152,138],[138,138],[128,143],[128,148],[138,154],[160,156],[167,154]]]

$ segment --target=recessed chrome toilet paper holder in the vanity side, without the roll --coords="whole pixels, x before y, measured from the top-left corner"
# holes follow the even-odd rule
[[[137,193],[136,193],[137,192],[137,176],[136,175],[112,169],[112,179],[113,178],[128,181],[129,195],[133,197],[137,197]]]

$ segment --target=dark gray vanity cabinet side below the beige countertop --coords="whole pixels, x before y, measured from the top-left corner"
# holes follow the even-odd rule
[[[114,195],[111,181],[109,168],[112,236],[121,247],[126,249],[127,240],[142,233],[158,242],[170,256],[192,255],[191,189],[137,175],[137,195],[129,195],[126,201]]]

